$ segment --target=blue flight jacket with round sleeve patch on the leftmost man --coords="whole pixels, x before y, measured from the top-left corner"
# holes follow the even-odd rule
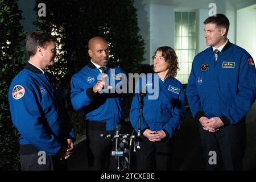
[[[10,113],[21,134],[20,145],[32,144],[47,155],[56,155],[61,146],[67,145],[68,138],[75,140],[75,134],[63,95],[44,74],[28,63],[15,76],[8,96]]]

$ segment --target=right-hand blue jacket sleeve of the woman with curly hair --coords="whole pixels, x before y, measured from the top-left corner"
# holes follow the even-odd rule
[[[177,131],[178,129],[180,129],[181,121],[184,119],[184,116],[185,116],[185,105],[184,105],[185,93],[182,85],[180,90],[181,91],[177,99],[177,104],[172,112],[172,117],[163,126],[163,129],[168,132],[168,135],[170,138],[172,137],[172,134],[174,131]]]

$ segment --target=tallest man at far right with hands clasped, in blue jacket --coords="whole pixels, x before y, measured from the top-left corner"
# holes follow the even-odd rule
[[[245,154],[245,118],[255,100],[253,58],[227,39],[223,14],[204,21],[209,48],[195,56],[187,97],[199,130],[207,170],[241,170]]]

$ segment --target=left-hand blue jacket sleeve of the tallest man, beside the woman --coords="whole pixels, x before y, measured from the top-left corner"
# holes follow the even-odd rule
[[[187,94],[188,104],[189,104],[191,113],[193,115],[193,118],[195,118],[196,121],[199,121],[199,119],[204,116],[204,111],[203,111],[203,108],[201,107],[200,97],[197,91],[194,64],[195,64],[195,59],[193,61],[191,73],[188,78],[186,94]]]

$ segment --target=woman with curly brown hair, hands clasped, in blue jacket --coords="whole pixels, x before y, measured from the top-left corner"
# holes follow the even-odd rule
[[[131,124],[142,136],[137,149],[137,170],[168,170],[174,133],[185,114],[184,90],[174,78],[179,69],[174,49],[159,47],[152,59],[155,73],[139,78],[136,90],[141,92],[133,97],[130,109]]]

